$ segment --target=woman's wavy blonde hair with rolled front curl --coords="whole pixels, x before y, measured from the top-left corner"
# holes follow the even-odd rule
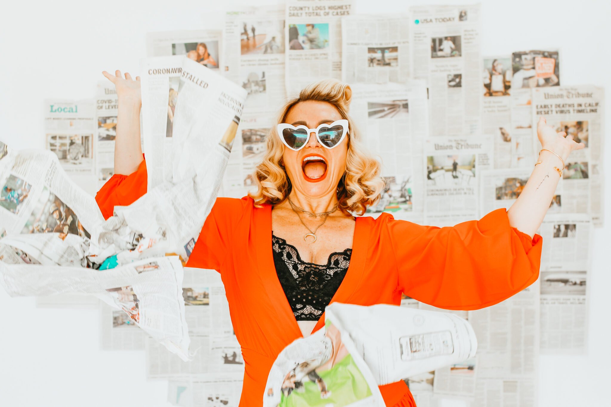
[[[297,98],[290,99],[277,117],[276,123],[284,123],[293,106],[304,101],[321,101],[331,103],[342,118],[348,120],[349,132],[346,137],[348,155],[346,172],[337,184],[338,208],[348,214],[362,215],[368,206],[375,205],[384,190],[384,181],[380,177],[380,164],[370,156],[361,145],[360,135],[353,120],[348,116],[352,89],[348,84],[326,79],[305,87]],[[269,131],[266,140],[266,153],[263,162],[255,168],[252,175],[257,191],[248,195],[255,206],[279,204],[287,199],[291,192],[291,181],[282,165],[282,154],[285,145],[278,137],[276,126]]]

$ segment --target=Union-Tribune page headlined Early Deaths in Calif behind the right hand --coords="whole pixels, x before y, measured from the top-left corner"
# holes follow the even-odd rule
[[[558,189],[566,212],[588,213],[594,226],[604,222],[604,88],[593,85],[557,86],[532,90],[532,123],[543,116],[558,132],[566,132],[585,148],[573,151]],[[532,129],[533,151],[542,148]]]

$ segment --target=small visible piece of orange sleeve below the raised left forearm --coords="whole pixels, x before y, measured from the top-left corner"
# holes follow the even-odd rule
[[[146,192],[147,164],[142,160],[138,169],[130,175],[114,174],[95,195],[95,201],[104,219],[108,219],[115,206],[129,205]]]

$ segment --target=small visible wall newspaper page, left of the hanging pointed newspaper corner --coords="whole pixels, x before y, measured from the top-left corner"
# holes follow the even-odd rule
[[[44,298],[44,297],[42,297]],[[122,309],[114,309],[100,301],[100,349],[144,350],[146,334]]]

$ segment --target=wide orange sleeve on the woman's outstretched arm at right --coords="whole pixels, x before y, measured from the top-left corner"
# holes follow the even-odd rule
[[[539,276],[543,239],[512,228],[505,209],[445,228],[388,217],[387,228],[398,289],[438,308],[491,306]]]

